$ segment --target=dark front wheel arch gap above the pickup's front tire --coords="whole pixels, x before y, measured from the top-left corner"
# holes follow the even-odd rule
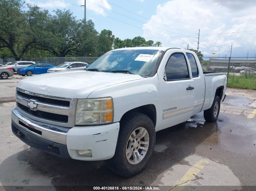
[[[127,111],[126,113],[124,113],[124,115],[121,117],[121,120],[128,113],[131,113],[131,112],[138,112],[138,113],[145,114],[152,120],[152,122],[154,123],[154,126],[156,126],[157,115],[156,115],[156,107],[154,104],[147,104],[147,105],[143,105],[143,106],[131,109],[131,110]]]

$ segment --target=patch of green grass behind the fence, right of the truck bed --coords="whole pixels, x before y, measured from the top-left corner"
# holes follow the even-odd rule
[[[256,90],[256,76],[252,74],[240,75],[239,73],[230,73],[228,75],[227,87]]]

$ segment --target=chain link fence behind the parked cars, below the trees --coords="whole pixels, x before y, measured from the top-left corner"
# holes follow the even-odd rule
[[[91,64],[98,57],[43,57],[43,58],[21,58],[20,61],[33,61],[36,63],[51,64],[54,66],[60,65],[63,62],[86,62]]]

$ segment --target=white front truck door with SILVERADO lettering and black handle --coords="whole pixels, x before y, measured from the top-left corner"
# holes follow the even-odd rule
[[[158,68],[162,117],[159,130],[188,120],[194,110],[194,80],[185,53],[171,51],[167,51]]]

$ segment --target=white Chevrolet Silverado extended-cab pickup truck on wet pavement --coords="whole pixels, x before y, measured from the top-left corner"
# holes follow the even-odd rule
[[[115,49],[84,71],[21,80],[12,131],[41,151],[106,160],[111,170],[130,177],[151,157],[156,131],[202,111],[206,121],[216,121],[226,84],[225,74],[204,73],[186,49]]]

